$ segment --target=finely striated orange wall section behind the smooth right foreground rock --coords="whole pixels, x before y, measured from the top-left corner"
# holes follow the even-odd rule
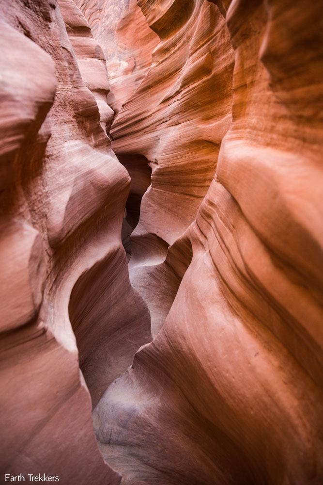
[[[147,299],[144,288],[148,284],[146,267],[162,263],[169,245],[194,220],[214,177],[218,149],[231,121],[233,50],[223,17],[214,5],[200,0],[189,5],[175,2],[170,10],[163,8],[163,20],[147,16],[151,28],[162,37],[150,70],[123,103],[111,130],[113,149],[131,175],[132,187],[145,184],[146,175],[143,167],[139,173],[138,160],[146,158],[152,169],[138,225],[131,233],[134,225],[124,224],[124,245],[131,253],[131,282],[145,295],[150,308],[154,303]],[[143,13],[146,15],[145,9]],[[131,15],[135,23],[137,14],[132,7],[128,17]],[[176,23],[179,17],[181,21]],[[162,24],[167,22],[172,32],[164,32]],[[125,28],[118,32],[119,40],[122,35],[125,39],[131,35]],[[133,49],[137,52],[136,43]],[[130,84],[131,78],[123,82]],[[132,192],[138,201],[138,191]],[[130,206],[137,212],[138,202],[133,197],[127,203],[128,213]],[[137,222],[135,218],[132,221]],[[175,287],[170,290],[172,295]],[[149,294],[153,297],[152,291]],[[165,315],[163,305],[160,315]]]

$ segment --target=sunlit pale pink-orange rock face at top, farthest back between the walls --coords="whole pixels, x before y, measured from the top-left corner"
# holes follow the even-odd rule
[[[107,60],[108,103],[117,113],[152,63],[159,38],[148,26],[137,0],[75,0],[91,25]]]

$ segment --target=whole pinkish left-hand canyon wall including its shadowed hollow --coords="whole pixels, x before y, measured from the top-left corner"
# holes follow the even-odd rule
[[[72,1],[0,11],[1,476],[118,484],[88,388],[95,404],[151,337],[121,244],[130,179],[106,133],[106,64]]]

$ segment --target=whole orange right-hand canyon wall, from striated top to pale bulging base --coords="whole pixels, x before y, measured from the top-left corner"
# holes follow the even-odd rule
[[[152,168],[129,267],[155,338],[95,430],[124,484],[321,484],[320,7],[214,3],[138,0],[160,43],[111,134]]]

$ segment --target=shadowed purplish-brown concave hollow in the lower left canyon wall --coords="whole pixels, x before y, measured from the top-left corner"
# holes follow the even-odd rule
[[[82,275],[73,288],[69,314],[79,364],[95,406],[108,385],[151,340],[150,315],[129,283],[123,248]]]

